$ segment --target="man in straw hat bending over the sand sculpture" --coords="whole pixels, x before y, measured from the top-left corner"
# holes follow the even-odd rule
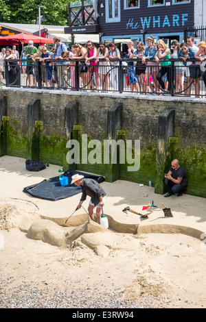
[[[93,209],[96,207],[97,221],[100,224],[101,210],[102,206],[104,206],[104,201],[106,199],[106,193],[104,189],[93,179],[84,178],[84,175],[73,175],[71,177],[71,184],[75,184],[75,186],[82,186],[82,197],[77,206],[77,209],[80,209],[84,200],[86,200],[87,196],[91,197],[89,201],[89,216],[93,219]]]

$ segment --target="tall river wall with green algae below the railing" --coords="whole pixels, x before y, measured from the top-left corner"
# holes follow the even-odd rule
[[[1,155],[39,158],[64,165],[65,170],[72,167],[105,175],[110,182],[148,184],[151,179],[156,193],[163,193],[163,173],[178,158],[187,171],[187,193],[206,196],[205,99],[22,88],[7,88],[4,94],[7,110],[1,99],[0,114],[3,110],[9,121],[4,122],[7,140],[3,145],[1,137]],[[73,125],[81,127],[73,129]],[[128,164],[67,164],[67,140],[77,138],[82,151],[82,134],[103,145],[106,138],[115,138],[117,129],[125,130],[117,139],[140,140],[139,171],[128,172]]]

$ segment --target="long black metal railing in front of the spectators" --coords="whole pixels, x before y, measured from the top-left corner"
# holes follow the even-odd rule
[[[1,86],[103,92],[130,92],[145,95],[205,97],[206,71],[199,61],[155,60],[142,64],[139,59],[121,59],[87,65],[84,60],[4,60]],[[92,62],[92,64],[95,62]],[[206,67],[206,66],[205,66]],[[206,68],[205,68],[206,69]]]

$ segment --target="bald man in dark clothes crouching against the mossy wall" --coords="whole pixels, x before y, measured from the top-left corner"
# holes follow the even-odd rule
[[[168,190],[164,197],[170,197],[177,193],[177,197],[181,197],[183,190],[187,188],[187,174],[182,166],[179,165],[179,160],[172,160],[170,171],[165,174],[163,184]]]

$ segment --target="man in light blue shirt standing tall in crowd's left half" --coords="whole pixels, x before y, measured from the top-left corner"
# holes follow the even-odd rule
[[[56,51],[56,60],[61,59],[61,53],[62,51],[67,51],[67,46],[65,44],[62,44],[60,37],[54,37],[54,44],[57,47]],[[67,62],[57,62],[56,64],[57,68],[57,75],[58,75],[58,82],[61,88],[66,88],[66,82],[65,82],[65,75],[67,75]]]

